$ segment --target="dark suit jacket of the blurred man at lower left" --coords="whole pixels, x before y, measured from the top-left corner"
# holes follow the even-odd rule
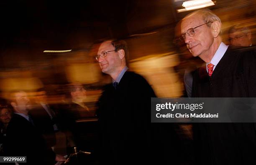
[[[29,165],[55,163],[55,153],[47,148],[43,135],[24,117],[13,114],[6,134],[7,155],[27,156]]]

